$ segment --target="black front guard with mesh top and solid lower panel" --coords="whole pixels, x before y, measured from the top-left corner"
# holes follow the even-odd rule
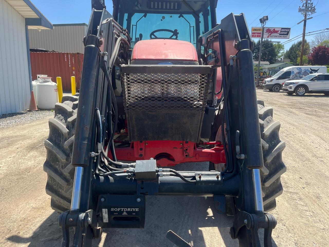
[[[197,142],[210,74],[211,66],[121,66],[129,140]]]

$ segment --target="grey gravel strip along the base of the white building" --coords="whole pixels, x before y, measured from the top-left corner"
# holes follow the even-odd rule
[[[23,111],[0,115],[0,129],[54,117],[54,110]]]

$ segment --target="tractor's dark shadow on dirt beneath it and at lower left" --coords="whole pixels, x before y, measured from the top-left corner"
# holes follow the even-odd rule
[[[181,164],[175,169],[206,171],[208,163]],[[146,198],[144,229],[104,229],[102,238],[95,239],[92,246],[174,247],[165,237],[166,232],[172,230],[193,247],[238,247],[238,240],[231,239],[229,234],[233,217],[217,214],[214,206],[213,197],[149,196]],[[58,213],[53,212],[31,236],[22,237],[16,234],[6,240],[29,247],[59,247],[62,231],[57,219]],[[70,231],[70,236],[72,245],[73,230]],[[263,238],[264,231],[260,232],[261,241]],[[273,239],[272,243],[277,247]]]

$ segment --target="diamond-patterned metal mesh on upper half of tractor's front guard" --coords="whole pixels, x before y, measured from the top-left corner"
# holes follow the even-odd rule
[[[192,71],[192,69],[191,69]],[[209,74],[200,73],[121,74],[126,111],[204,111]]]

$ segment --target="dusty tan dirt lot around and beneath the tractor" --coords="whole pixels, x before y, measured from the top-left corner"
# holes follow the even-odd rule
[[[329,245],[329,97],[288,96],[257,90],[281,122],[280,137],[287,172],[284,193],[272,211],[278,225],[274,246]],[[0,121],[5,121],[0,119]],[[60,246],[58,214],[45,193],[42,164],[48,117],[0,129],[0,246]],[[193,164],[178,167],[204,166]],[[194,168],[191,168],[192,170]],[[199,167],[200,169],[200,167]],[[212,198],[149,197],[145,229],[106,229],[94,246],[173,246],[171,229],[195,247],[238,246],[228,232],[232,218],[213,214]]]

